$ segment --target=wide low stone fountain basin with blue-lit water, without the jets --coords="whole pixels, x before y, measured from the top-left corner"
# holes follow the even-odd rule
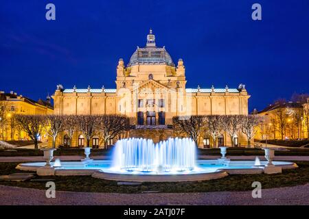
[[[261,161],[260,167],[254,166],[254,160],[230,161],[228,165],[218,159],[199,159],[196,170],[163,172],[138,172],[113,170],[110,160],[93,160],[93,162],[61,162],[61,167],[53,167],[56,176],[93,176],[98,179],[115,181],[203,181],[219,179],[234,174],[260,174],[264,172],[266,161]],[[293,162],[274,161],[275,166],[284,169],[297,168]],[[51,166],[54,162],[51,162]],[[19,170],[36,171],[45,166],[45,162],[23,163],[16,166]]]

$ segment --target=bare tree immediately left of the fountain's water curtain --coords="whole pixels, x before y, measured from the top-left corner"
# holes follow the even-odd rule
[[[115,136],[128,130],[130,127],[129,119],[122,115],[100,115],[98,116],[98,129],[102,133],[104,140],[104,147],[106,148],[108,140],[115,138]]]

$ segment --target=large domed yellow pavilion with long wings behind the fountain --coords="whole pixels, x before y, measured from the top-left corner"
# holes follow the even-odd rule
[[[152,138],[155,142],[173,136],[173,116],[209,114],[248,114],[249,94],[239,88],[186,88],[185,66],[177,65],[165,47],[157,47],[155,35],[147,35],[146,47],[137,47],[128,64],[117,66],[116,88],[63,89],[58,86],[54,99],[55,114],[124,114],[135,125],[130,137]],[[241,135],[241,134],[240,134]],[[127,137],[128,137],[127,136]],[[80,134],[73,140],[82,146]],[[93,144],[103,144],[95,136]],[[209,142],[209,140],[207,140]],[[247,144],[247,139],[238,142]],[[199,142],[205,144],[205,139]],[[219,144],[229,145],[224,134]]]

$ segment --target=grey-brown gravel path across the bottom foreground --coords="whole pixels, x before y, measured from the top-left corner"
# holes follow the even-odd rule
[[[57,186],[57,185],[56,185]],[[0,185],[0,205],[309,205],[309,183],[262,190],[262,198],[248,192],[116,194],[56,192]]]

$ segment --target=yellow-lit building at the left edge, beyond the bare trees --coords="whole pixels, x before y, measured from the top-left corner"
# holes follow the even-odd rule
[[[5,93],[0,91],[0,140],[30,140],[27,134],[21,131],[14,121],[14,114],[45,115],[53,114],[51,97],[47,96],[45,101],[39,99],[34,101],[16,92]],[[40,140],[44,139],[41,136]]]

